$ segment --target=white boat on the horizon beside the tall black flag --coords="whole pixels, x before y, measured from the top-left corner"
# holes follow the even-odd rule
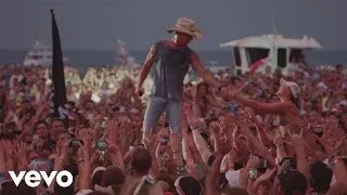
[[[68,62],[67,57],[63,57],[64,64]],[[24,66],[52,66],[52,48],[36,41],[25,54]]]

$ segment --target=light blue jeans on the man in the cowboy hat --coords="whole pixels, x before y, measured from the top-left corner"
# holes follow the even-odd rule
[[[143,131],[155,130],[162,114],[166,112],[166,120],[171,133],[181,131],[182,102],[178,100],[151,96],[145,109]]]

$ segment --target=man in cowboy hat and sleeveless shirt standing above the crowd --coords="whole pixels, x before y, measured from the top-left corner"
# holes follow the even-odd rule
[[[219,90],[221,87],[213,73],[203,66],[198,55],[188,46],[193,39],[202,39],[202,32],[195,22],[185,17],[178,18],[176,26],[167,31],[175,34],[174,39],[158,41],[151,48],[140,73],[136,94],[143,94],[142,84],[153,67],[153,87],[143,129],[154,130],[165,110],[174,138],[181,130],[183,79],[190,65],[207,84]]]

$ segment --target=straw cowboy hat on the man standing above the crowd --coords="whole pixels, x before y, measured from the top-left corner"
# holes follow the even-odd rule
[[[175,31],[188,34],[195,39],[202,39],[203,37],[201,30],[196,27],[195,22],[187,17],[178,18],[176,26],[167,30],[167,32],[169,34],[172,34]]]

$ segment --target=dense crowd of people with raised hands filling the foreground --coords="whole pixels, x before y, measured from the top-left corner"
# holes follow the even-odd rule
[[[165,115],[142,136],[139,69],[90,69],[81,79],[66,68],[64,122],[50,116],[49,69],[1,66],[0,194],[346,194],[344,67],[229,72],[215,75],[222,94],[200,80],[184,83],[180,139],[171,139]],[[299,117],[286,122],[278,113],[291,107],[262,106],[279,104],[283,79],[301,88],[291,100]],[[68,170],[74,184],[16,187],[9,171],[21,170]]]

